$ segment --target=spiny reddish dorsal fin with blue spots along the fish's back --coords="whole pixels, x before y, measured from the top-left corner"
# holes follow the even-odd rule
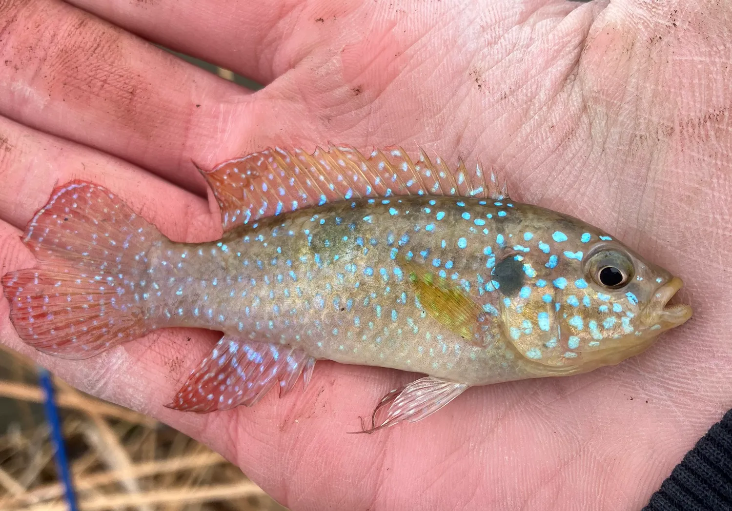
[[[413,161],[399,147],[364,156],[348,145],[302,149],[268,148],[206,171],[198,169],[211,186],[221,208],[224,230],[267,216],[337,200],[389,195],[455,195],[507,199],[505,183],[486,176],[480,164],[468,172],[462,160],[450,172],[437,157],[431,162],[420,149]]]

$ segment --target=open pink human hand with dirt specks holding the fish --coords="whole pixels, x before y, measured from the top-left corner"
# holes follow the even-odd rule
[[[18,235],[56,183],[95,181],[174,240],[212,240],[191,159],[332,140],[480,158],[515,200],[684,279],[695,316],[642,355],[474,388],[371,436],[346,431],[417,376],[318,362],[305,393],[183,414],[163,404],[216,333],[69,362],[23,346],[0,301],[4,344],[209,444],[291,509],[638,509],[732,406],[729,4],[26,0],[1,4],[0,26],[0,273],[33,264]]]

